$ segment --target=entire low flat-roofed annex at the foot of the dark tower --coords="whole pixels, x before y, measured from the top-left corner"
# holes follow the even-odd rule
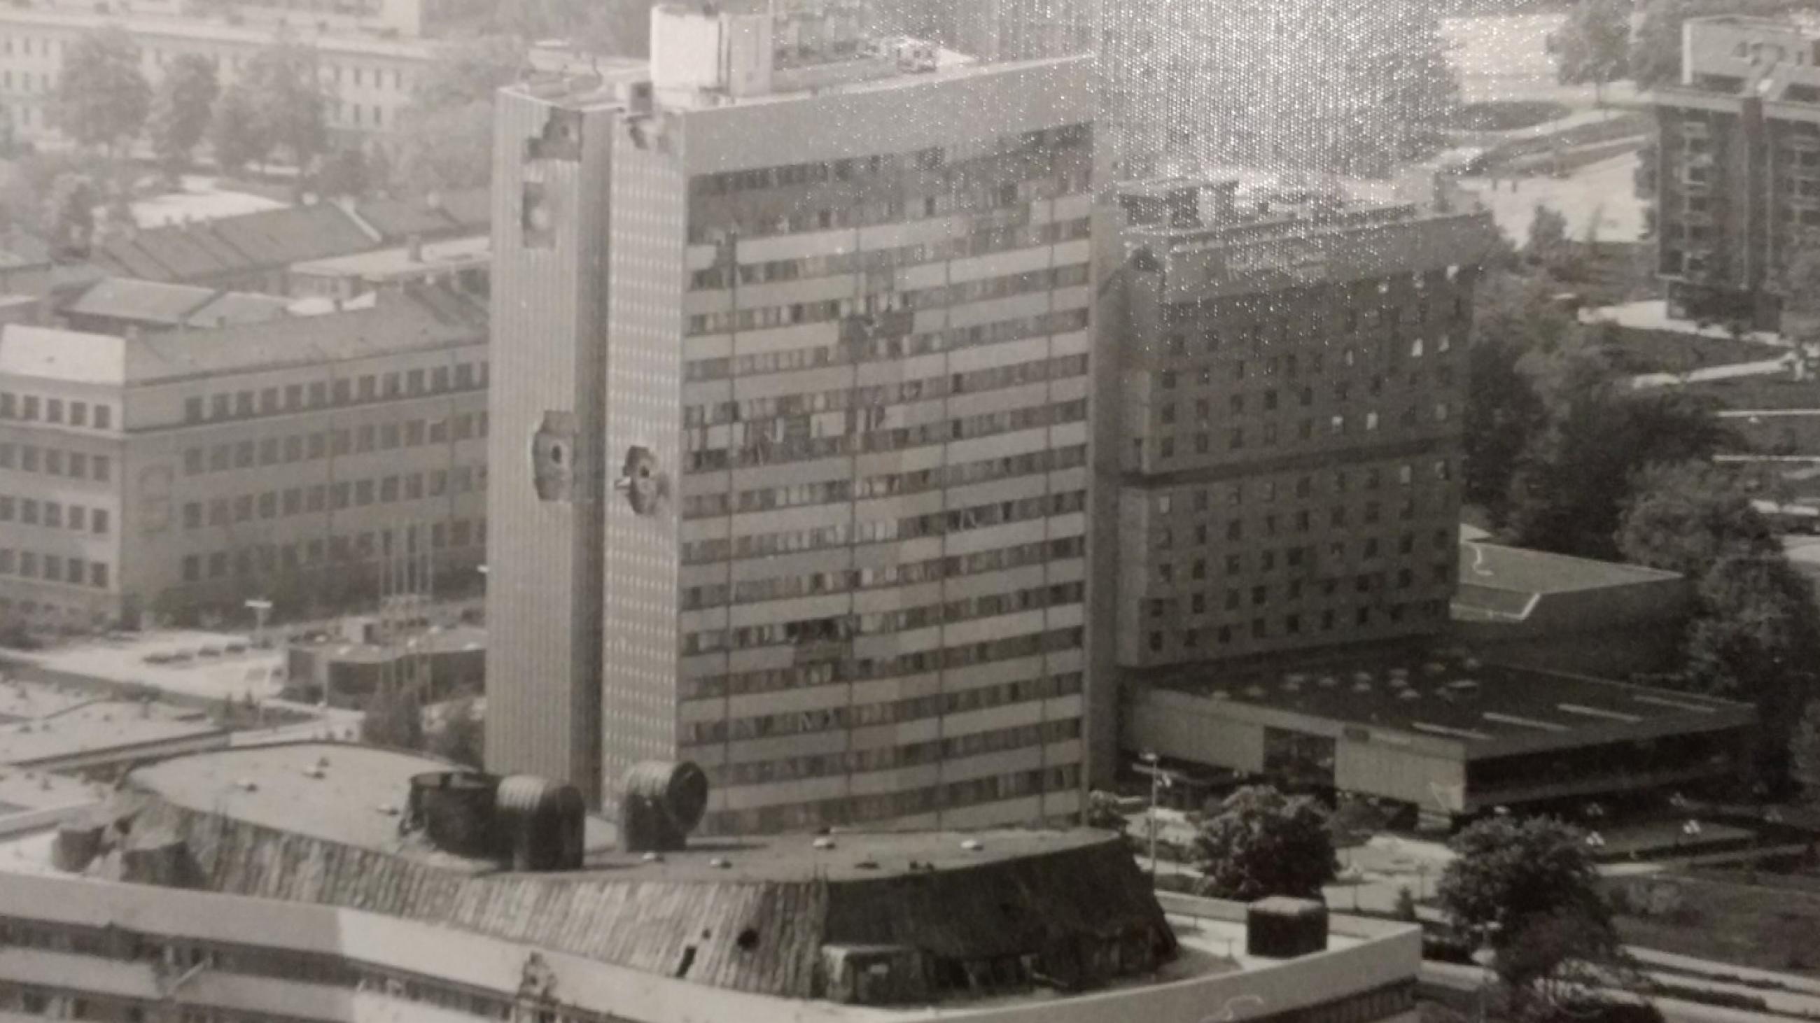
[[[1740,703],[1485,664],[1460,652],[1341,652],[1183,670],[1127,692],[1127,744],[1167,761],[1416,806],[1494,806],[1736,779]]]

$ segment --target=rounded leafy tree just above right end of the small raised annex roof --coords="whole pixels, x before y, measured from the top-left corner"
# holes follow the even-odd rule
[[[1727,557],[1782,553],[1774,532],[1731,473],[1709,462],[1643,470],[1618,521],[1625,561],[1698,581]]]

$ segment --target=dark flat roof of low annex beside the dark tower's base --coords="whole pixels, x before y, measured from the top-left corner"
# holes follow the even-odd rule
[[[1176,670],[1152,683],[1216,703],[1301,714],[1465,743],[1572,735],[1613,724],[1718,730],[1749,723],[1749,704],[1674,690],[1609,683],[1471,655],[1336,653],[1301,664]]]

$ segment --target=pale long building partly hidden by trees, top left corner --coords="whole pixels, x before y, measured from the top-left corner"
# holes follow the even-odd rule
[[[415,38],[422,18],[393,16],[406,7],[420,9],[420,4],[335,4],[335,11],[360,9],[371,16],[297,11],[253,0],[226,7],[226,13],[204,16],[175,0],[138,0],[118,9],[71,0],[9,4],[0,11],[0,104],[13,131],[31,142],[60,138],[51,124],[51,106],[64,55],[80,36],[104,27],[120,27],[133,36],[140,47],[140,71],[153,86],[180,55],[202,55],[215,62],[226,87],[255,53],[280,36],[306,42],[318,56],[322,89],[329,98],[328,126],[346,140],[382,138],[395,129],[400,109],[411,102],[417,76],[437,53],[431,42]],[[284,20],[286,11],[289,22]],[[255,16],[258,13],[273,16]],[[399,25],[391,25],[393,20]],[[411,22],[419,31],[408,31]]]

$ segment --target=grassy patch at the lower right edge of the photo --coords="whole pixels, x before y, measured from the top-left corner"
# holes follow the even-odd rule
[[[1620,914],[1625,943],[1820,977],[1820,894],[1673,877],[1680,905],[1662,916]]]

